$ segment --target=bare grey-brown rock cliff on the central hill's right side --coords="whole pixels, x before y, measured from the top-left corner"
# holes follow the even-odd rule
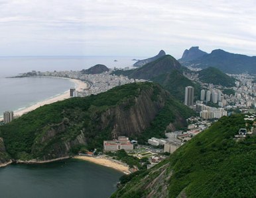
[[[111,126],[112,138],[119,135],[138,135],[149,127],[151,121],[158,114],[166,102],[166,92],[161,90],[157,101],[151,100],[154,89],[142,90],[136,98],[110,108],[101,114],[101,126]],[[133,105],[130,105],[133,104]]]

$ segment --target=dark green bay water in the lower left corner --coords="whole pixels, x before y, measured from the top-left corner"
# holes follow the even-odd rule
[[[0,168],[0,197],[109,197],[123,174],[82,160]]]

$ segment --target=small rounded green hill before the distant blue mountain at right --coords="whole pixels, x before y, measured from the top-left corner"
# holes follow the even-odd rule
[[[208,67],[198,72],[198,78],[201,82],[218,84],[222,86],[235,86],[235,79],[229,77],[220,69]]]

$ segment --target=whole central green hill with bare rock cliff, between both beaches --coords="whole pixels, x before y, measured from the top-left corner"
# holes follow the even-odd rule
[[[141,142],[164,137],[168,125],[184,127],[192,115],[158,84],[132,83],[42,106],[0,126],[0,137],[16,160],[51,160],[81,147],[102,150],[103,140],[119,135]]]

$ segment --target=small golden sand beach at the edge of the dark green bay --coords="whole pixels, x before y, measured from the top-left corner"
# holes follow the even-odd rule
[[[80,160],[86,160],[88,162],[93,162],[95,164],[99,164],[102,166],[107,166],[109,168],[114,168],[115,170],[119,170],[123,172],[124,174],[130,174],[131,172],[129,171],[128,166],[124,166],[122,164],[118,164],[117,162],[113,162],[111,160],[105,159],[105,158],[95,158],[92,156],[74,156],[76,159]]]

